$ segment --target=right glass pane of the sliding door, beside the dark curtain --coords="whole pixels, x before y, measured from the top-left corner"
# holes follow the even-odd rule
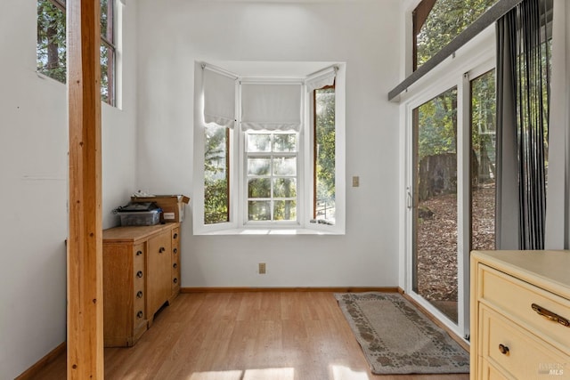
[[[471,81],[471,249],[495,249],[495,75]]]

